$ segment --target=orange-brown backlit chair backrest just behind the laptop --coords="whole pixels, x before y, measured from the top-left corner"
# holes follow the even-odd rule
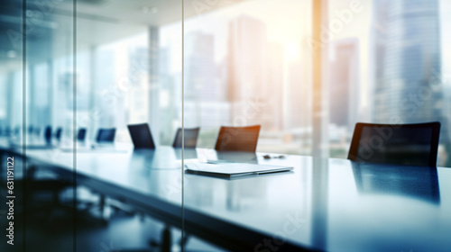
[[[257,148],[260,125],[249,127],[221,127],[216,139],[218,151],[249,151]]]

